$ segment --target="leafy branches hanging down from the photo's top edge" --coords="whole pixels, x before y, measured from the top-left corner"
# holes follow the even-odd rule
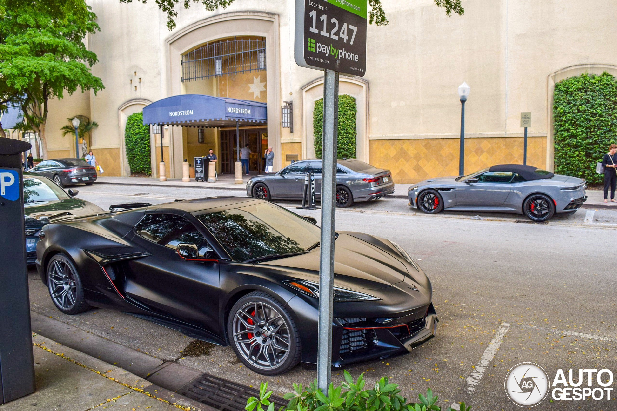
[[[142,3],[146,3],[148,0],[138,0]],[[178,17],[178,12],[174,10],[176,4],[180,0],[154,0],[159,9],[167,14],[167,28],[173,30],[176,27],[175,18]],[[465,12],[461,0],[433,0],[437,7],[443,7],[445,14],[451,15],[452,12],[458,15],[462,15]],[[133,0],[120,0],[121,3],[132,3]],[[193,0],[195,3],[201,3],[208,11],[213,11],[219,8],[225,9],[229,6],[233,0]],[[370,10],[368,10],[368,22],[370,24],[376,24],[378,26],[387,25],[386,12],[384,12],[381,0],[368,0]],[[184,9],[191,7],[189,0],[183,1]]]

